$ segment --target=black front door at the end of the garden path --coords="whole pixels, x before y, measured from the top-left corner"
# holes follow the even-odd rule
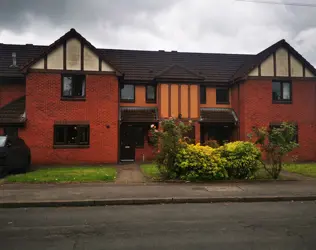
[[[121,148],[120,148],[120,160],[121,161],[134,161],[135,160],[135,141],[133,135],[133,126],[122,125],[121,126]]]

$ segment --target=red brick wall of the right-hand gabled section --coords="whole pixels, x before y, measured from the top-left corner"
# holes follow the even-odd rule
[[[298,124],[299,161],[316,160],[316,82],[292,81],[292,104],[272,104],[271,80],[247,80],[240,85],[240,136],[247,139],[252,126],[293,121]]]

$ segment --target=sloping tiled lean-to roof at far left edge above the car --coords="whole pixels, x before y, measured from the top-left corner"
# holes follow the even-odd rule
[[[0,125],[21,125],[25,121],[25,96],[8,103],[0,109]]]

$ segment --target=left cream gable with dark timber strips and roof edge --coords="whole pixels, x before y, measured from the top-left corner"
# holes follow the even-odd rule
[[[23,67],[36,70],[79,70],[119,73],[84,37],[71,29],[38,58]]]

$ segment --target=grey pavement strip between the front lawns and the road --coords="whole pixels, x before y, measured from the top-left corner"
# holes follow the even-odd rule
[[[0,208],[316,200],[316,181],[1,184]]]

